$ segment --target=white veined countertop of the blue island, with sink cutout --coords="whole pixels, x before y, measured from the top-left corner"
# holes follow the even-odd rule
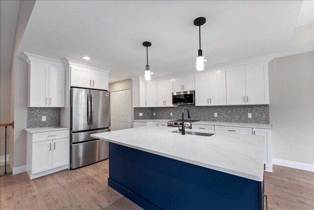
[[[197,136],[170,132],[176,130],[172,127],[145,126],[91,136],[243,178],[263,180],[262,136],[227,132]]]

